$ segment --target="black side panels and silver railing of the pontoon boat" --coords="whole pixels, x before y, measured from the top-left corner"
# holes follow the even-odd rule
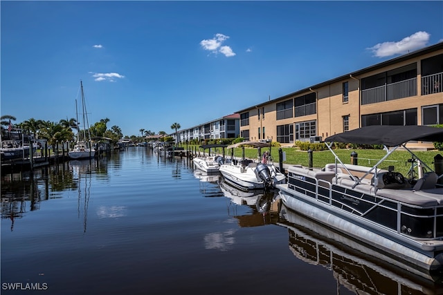
[[[327,177],[314,171],[303,174],[290,172],[288,188],[316,202],[341,209],[350,218],[363,218],[365,222],[373,222],[401,236],[420,240],[443,238],[443,202],[420,197],[413,190],[382,189],[385,193],[394,194],[388,198],[376,194],[373,185],[358,184],[352,188],[353,181],[350,179],[347,186],[343,180],[335,184],[325,179]]]

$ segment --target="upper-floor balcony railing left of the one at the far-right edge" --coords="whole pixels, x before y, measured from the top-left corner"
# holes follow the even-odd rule
[[[361,91],[361,104],[376,104],[417,95],[417,78]]]

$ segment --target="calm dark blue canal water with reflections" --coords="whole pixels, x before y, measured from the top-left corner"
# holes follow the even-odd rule
[[[2,294],[443,293],[220,182],[143,147],[2,175]]]

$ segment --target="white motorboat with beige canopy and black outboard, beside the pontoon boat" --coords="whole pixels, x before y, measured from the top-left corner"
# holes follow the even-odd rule
[[[244,158],[244,148],[251,146],[258,149],[257,160]],[[226,149],[242,148],[242,159],[234,160],[221,164],[219,171],[224,180],[237,189],[249,191],[251,189],[274,189],[275,184],[286,182],[286,176],[278,171],[272,162],[271,153],[267,151],[262,157],[260,151],[262,148],[270,147],[267,142],[239,142],[231,144]]]

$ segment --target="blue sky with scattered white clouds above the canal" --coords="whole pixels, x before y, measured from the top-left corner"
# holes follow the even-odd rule
[[[443,40],[443,1],[1,1],[1,115],[181,129]]]

